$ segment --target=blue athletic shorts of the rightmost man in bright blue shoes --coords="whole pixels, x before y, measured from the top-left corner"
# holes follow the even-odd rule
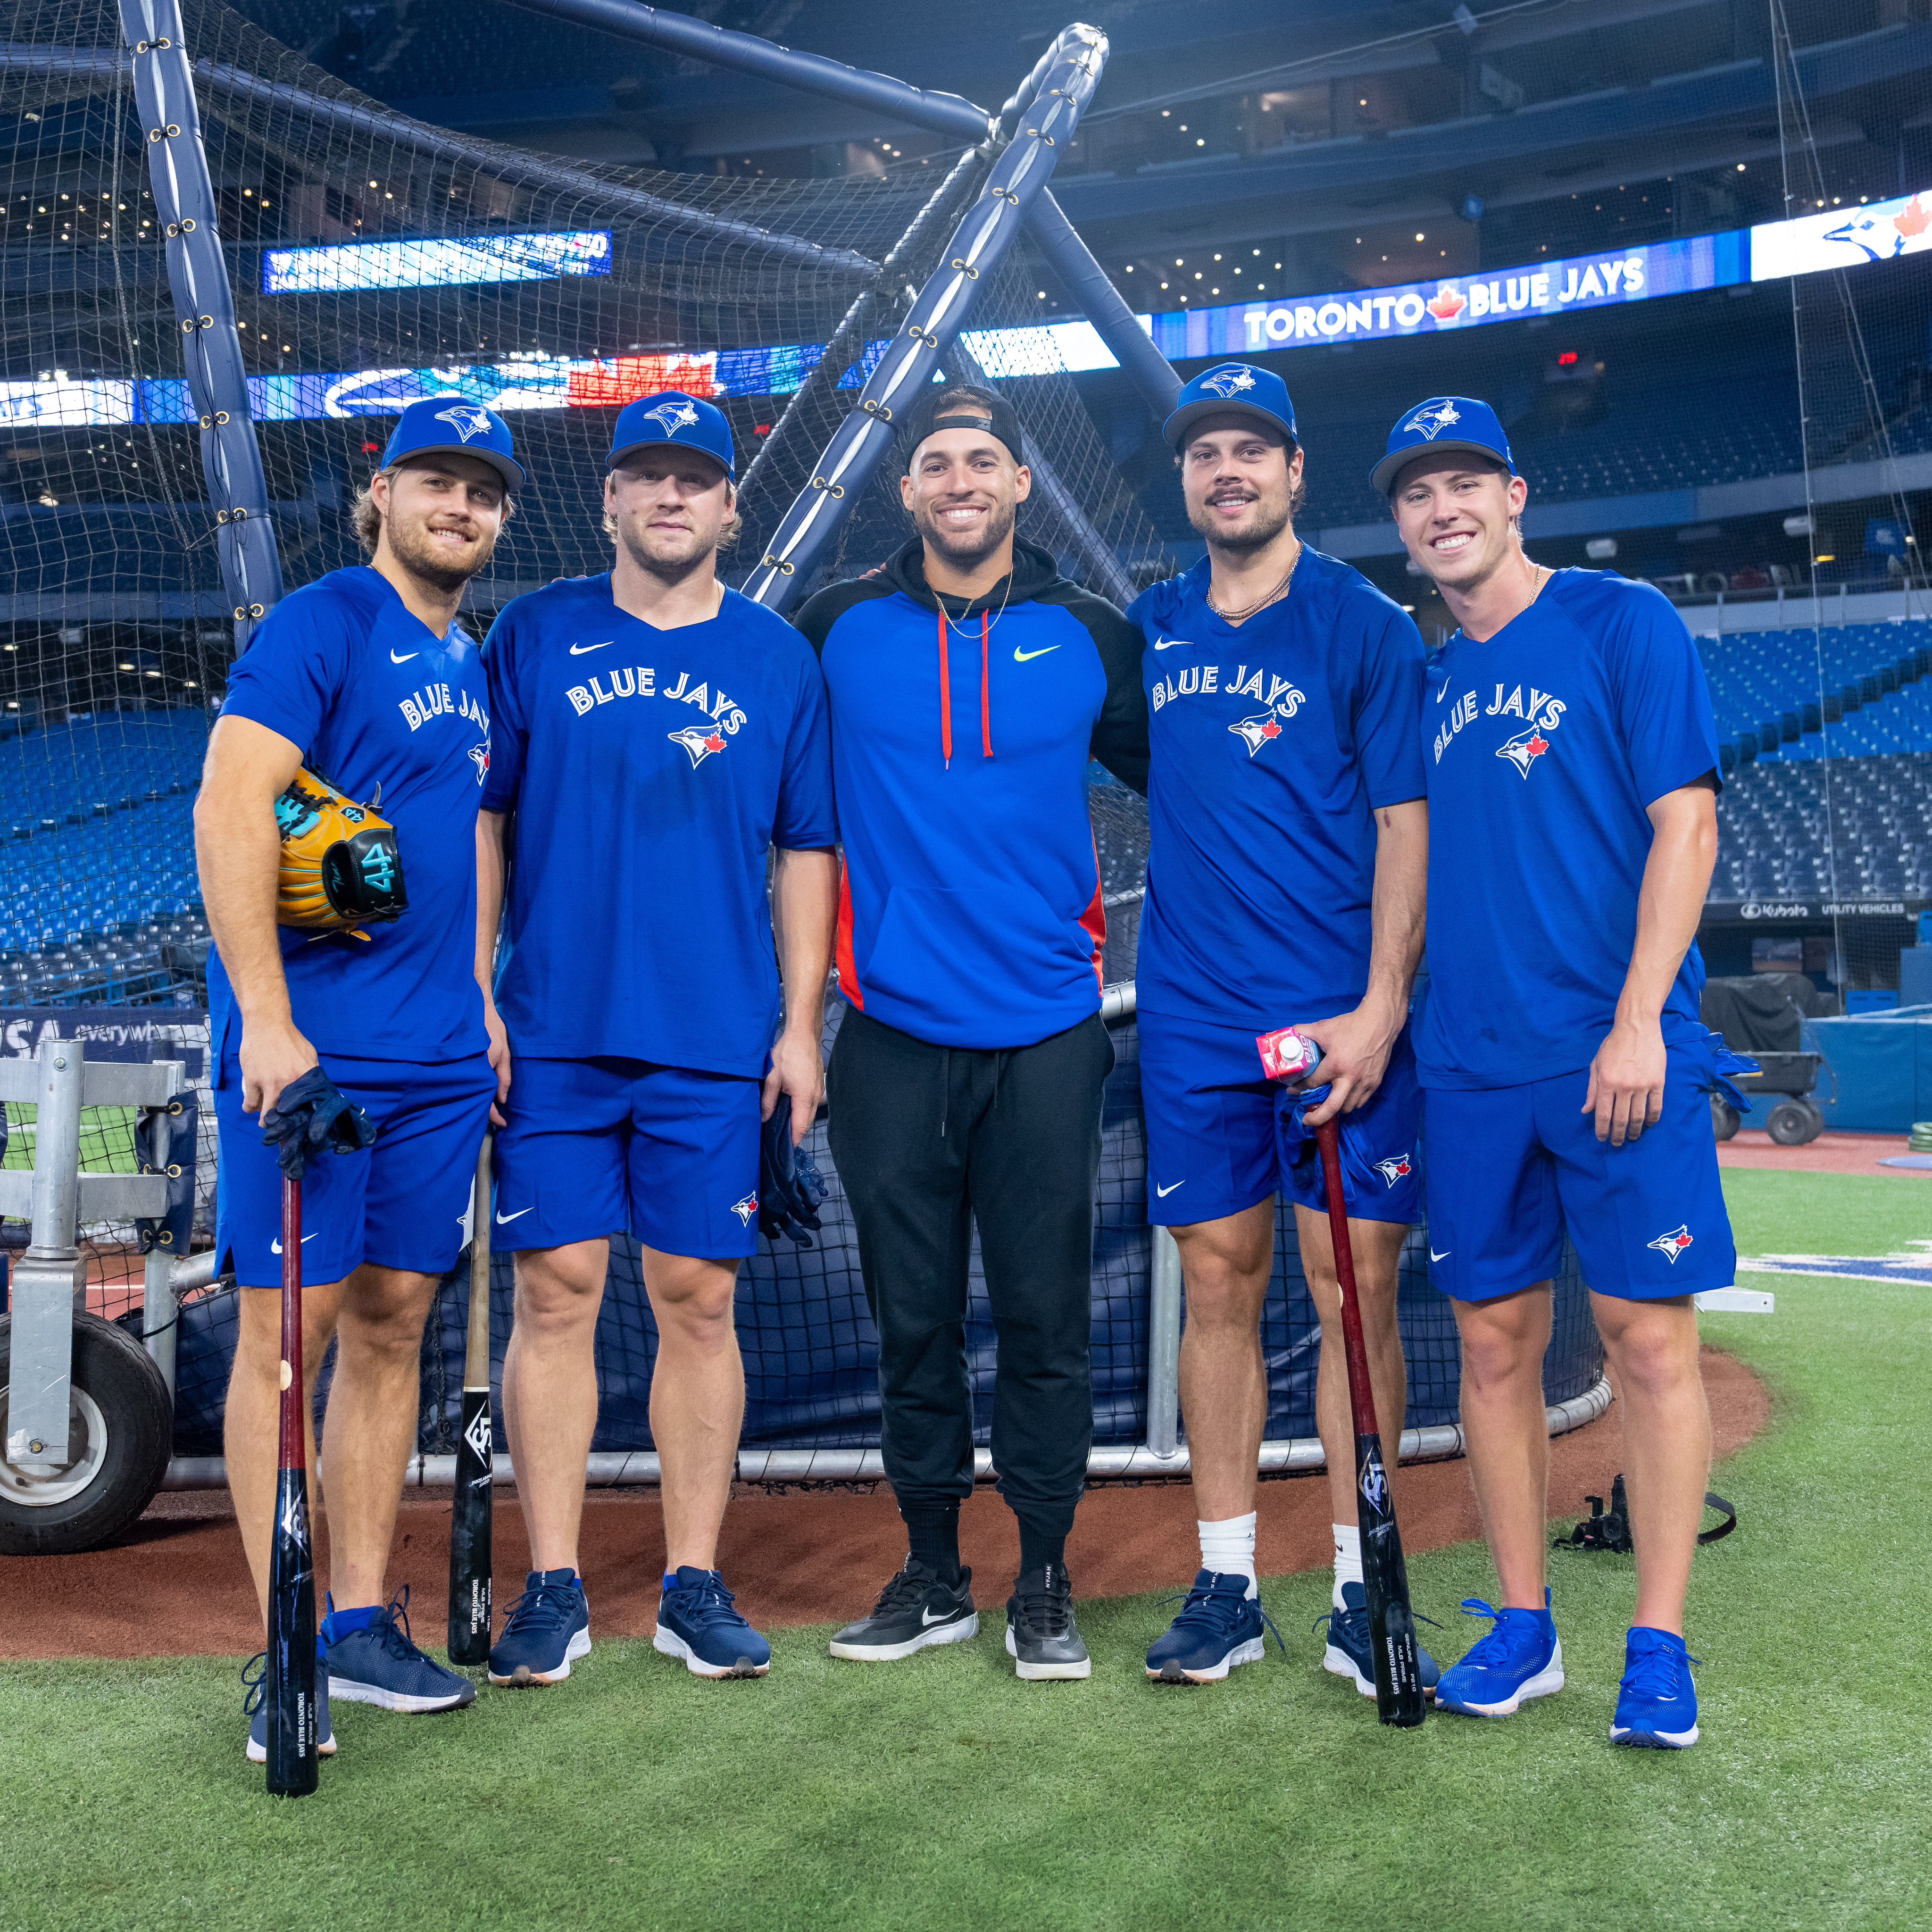
[[[1731,1217],[1710,1130],[1712,1049],[1665,1049],[1663,1119],[1613,1148],[1582,1111],[1588,1068],[1515,1088],[1430,1088],[1430,1279],[1461,1302],[1549,1281],[1569,1229],[1598,1294],[1727,1289]]]

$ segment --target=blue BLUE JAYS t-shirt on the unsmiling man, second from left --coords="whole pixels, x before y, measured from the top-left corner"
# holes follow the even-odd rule
[[[485,643],[516,813],[497,964],[514,1053],[757,1076],[779,1026],[765,854],[838,842],[811,645],[724,591],[655,630],[611,576],[508,605]]]

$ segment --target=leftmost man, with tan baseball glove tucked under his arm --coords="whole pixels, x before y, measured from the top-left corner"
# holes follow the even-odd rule
[[[284,597],[263,620],[228,672],[195,800],[214,933],[214,1238],[242,1285],[224,1420],[228,1486],[265,1615],[282,1177],[263,1121],[284,1088],[321,1066],[375,1124],[375,1146],[309,1165],[301,1271],[311,1381],[330,1335],[338,1339],[319,1470],[332,1584],[321,1689],[386,1710],[448,1710],[475,1696],[383,1607],[383,1573],[415,1449],[423,1320],[462,1246],[497,1086],[469,943],[489,692],[456,609],[489,564],[510,491],[522,485],[502,417],[462,396],[412,402],[355,500],[369,562]],[[394,923],[336,933],[276,925],[276,800],[303,767],[394,825],[408,896]],[[327,1710],[323,1750],[332,1752]],[[267,1710],[255,1708],[253,1719],[247,1754],[261,1762]]]

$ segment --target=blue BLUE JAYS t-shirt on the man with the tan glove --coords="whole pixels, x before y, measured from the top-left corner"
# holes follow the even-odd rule
[[[296,1026],[321,1053],[450,1061],[481,1053],[475,825],[489,682],[464,630],[437,638],[381,572],[332,570],[284,597],[228,672],[224,719],[299,746],[309,771],[396,827],[410,906],[354,933],[280,927]],[[214,1059],[240,1020],[209,954]]]

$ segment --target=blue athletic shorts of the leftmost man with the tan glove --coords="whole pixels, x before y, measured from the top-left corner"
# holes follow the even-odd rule
[[[261,1142],[261,1117],[242,1111],[240,1037],[234,1028],[214,1082],[214,1246],[234,1256],[242,1287],[278,1289],[282,1169]],[[464,1246],[477,1150],[497,1095],[489,1061],[481,1053],[435,1065],[323,1053],[321,1063],[344,1095],[369,1111],[375,1146],[309,1161],[301,1182],[301,1279],[340,1281],[363,1262],[446,1273]]]

